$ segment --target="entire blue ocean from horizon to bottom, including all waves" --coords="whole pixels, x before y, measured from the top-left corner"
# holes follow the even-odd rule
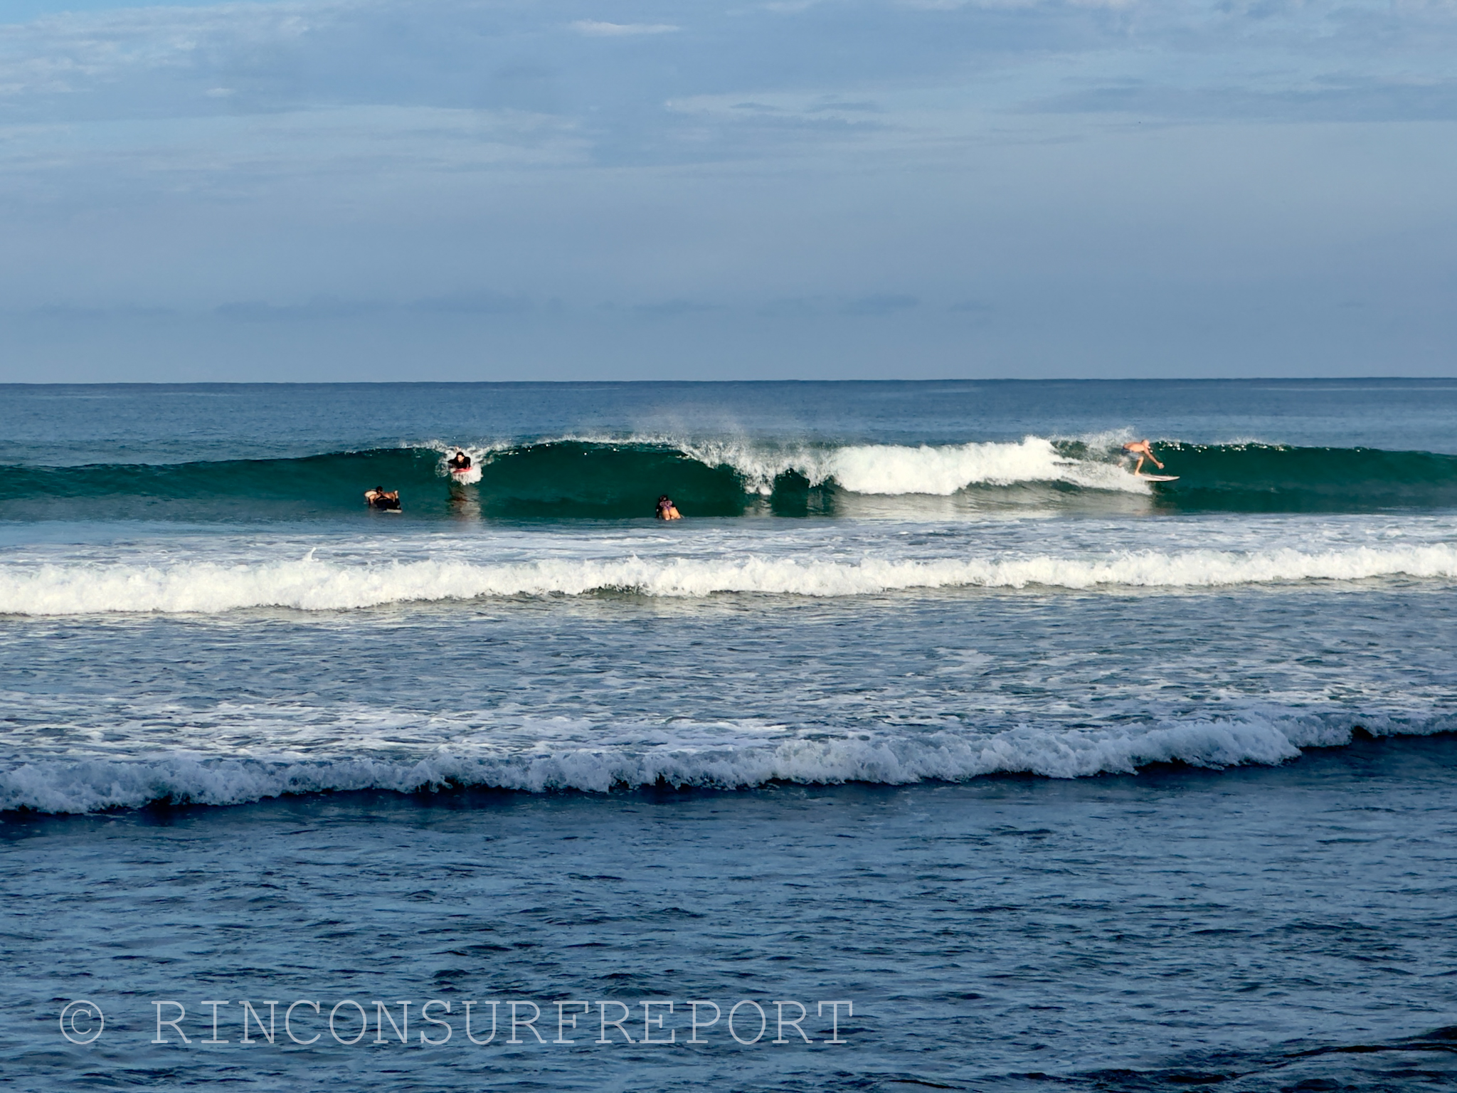
[[[3,1089],[1457,1084],[1457,380],[0,398]]]

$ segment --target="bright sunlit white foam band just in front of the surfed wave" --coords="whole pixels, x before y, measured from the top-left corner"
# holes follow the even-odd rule
[[[765,593],[857,596],[905,589],[988,587],[1199,589],[1301,580],[1457,577],[1450,544],[1352,546],[1305,552],[1136,551],[1091,557],[861,558],[552,558],[510,564],[315,560],[173,564],[0,565],[0,614],[216,614],[239,608],[348,611],[385,603],[479,596],[580,596],[627,590],[645,596]]]

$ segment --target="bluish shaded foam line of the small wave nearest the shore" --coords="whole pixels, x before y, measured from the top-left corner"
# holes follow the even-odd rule
[[[1375,734],[1447,732],[1447,721],[1368,726]],[[476,786],[606,793],[641,786],[743,788],[771,781],[903,786],[988,774],[1077,778],[1129,774],[1158,762],[1224,768],[1279,764],[1301,748],[1349,743],[1349,724],[1314,717],[1189,720],[1103,729],[1023,727],[1004,733],[787,740],[771,746],[643,751],[574,748],[517,755],[431,753],[420,759],[337,756],[310,761],[44,759],[0,771],[0,810],[96,812],[152,802],[239,804],[294,793]]]

